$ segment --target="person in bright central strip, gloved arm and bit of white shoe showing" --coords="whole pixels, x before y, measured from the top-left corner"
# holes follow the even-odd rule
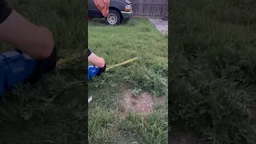
[[[98,55],[94,54],[90,49],[88,49],[88,62],[99,68],[98,74],[96,75],[100,75],[106,70],[106,62],[104,58],[98,57]],[[88,96],[88,102],[91,100],[91,96]]]

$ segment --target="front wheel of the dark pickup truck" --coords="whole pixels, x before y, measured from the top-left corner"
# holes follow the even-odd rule
[[[110,10],[110,13],[105,18],[106,25],[119,25],[121,23],[121,15],[117,10]]]

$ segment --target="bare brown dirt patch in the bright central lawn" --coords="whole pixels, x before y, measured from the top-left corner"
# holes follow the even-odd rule
[[[129,90],[127,90],[122,104],[122,117],[126,117],[125,114],[127,110],[131,110],[142,115],[148,115],[154,109],[152,95],[147,92],[134,96]]]

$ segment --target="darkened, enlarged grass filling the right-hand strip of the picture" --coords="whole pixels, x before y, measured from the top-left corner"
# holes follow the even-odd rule
[[[171,2],[170,125],[206,143],[256,143],[256,2]]]

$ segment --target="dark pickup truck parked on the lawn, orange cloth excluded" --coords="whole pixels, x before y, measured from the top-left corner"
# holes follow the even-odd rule
[[[110,0],[110,13],[105,18],[107,25],[119,25],[123,20],[132,18],[132,6],[128,0]],[[88,17],[104,18],[102,12],[94,4],[94,0],[88,0]]]

